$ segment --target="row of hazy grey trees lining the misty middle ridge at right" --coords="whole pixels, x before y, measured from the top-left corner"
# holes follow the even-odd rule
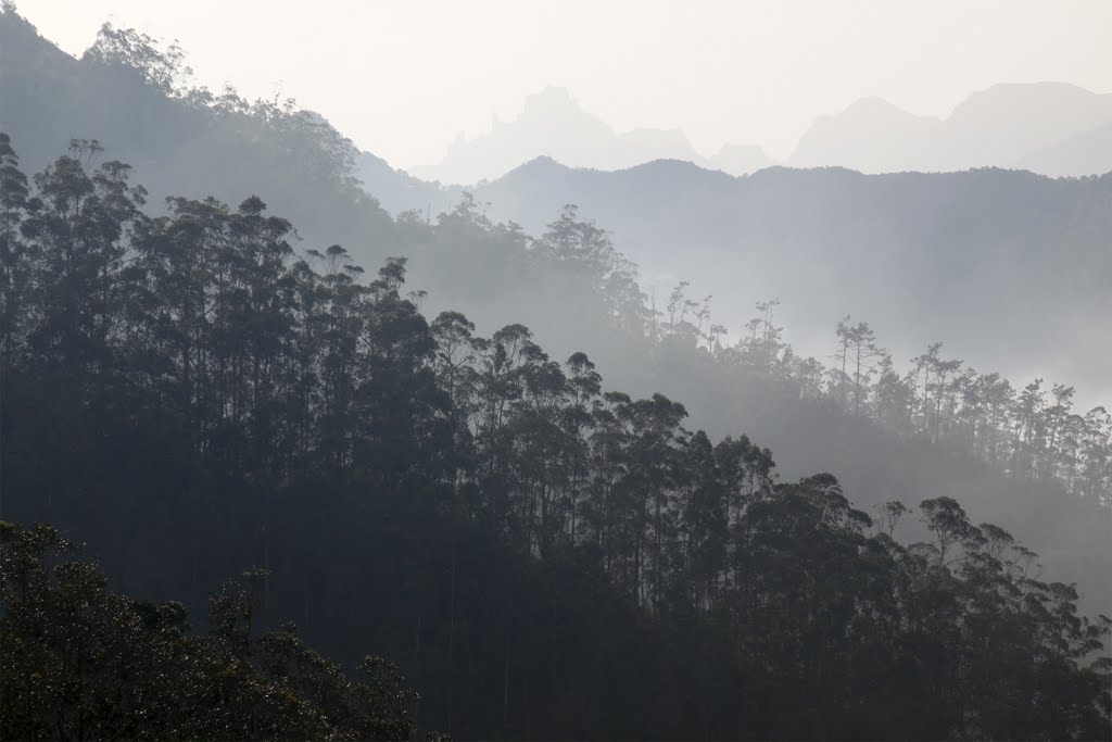
[[[1098,406],[1073,412],[1074,387],[1036,378],[1022,389],[999,373],[977,373],[945,358],[942,343],[900,370],[867,323],[845,317],[835,327],[831,365],[800,357],[774,321],[777,300],[732,345],[711,320],[709,300],[688,299],[681,283],[651,334],[657,343],[705,354],[725,369],[754,374],[800,399],[833,403],[911,441],[953,444],[1004,474],[1062,486],[1071,495],[1112,507],[1112,415]]]

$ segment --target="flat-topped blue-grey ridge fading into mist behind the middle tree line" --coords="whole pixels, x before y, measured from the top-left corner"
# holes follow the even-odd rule
[[[944,339],[977,367],[1069,379],[1108,398],[1112,176],[1054,180],[997,169],[862,175],[771,168],[734,178],[678,161],[617,172],[529,162],[477,190],[536,234],[559,205],[613,230],[657,306],[681,280],[742,330],[778,297],[805,353],[833,321],[870,321],[897,357]],[[1037,348],[1037,353],[1033,349]]]

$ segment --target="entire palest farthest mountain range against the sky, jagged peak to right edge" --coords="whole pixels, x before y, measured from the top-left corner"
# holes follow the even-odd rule
[[[971,93],[945,117],[915,116],[881,98],[862,98],[820,116],[784,161],[756,145],[726,144],[701,155],[677,129],[618,133],[564,88],[526,99],[512,121],[460,136],[434,166],[411,175],[476,184],[536,157],[569,167],[623,170],[661,159],[741,176],[774,165],[845,167],[861,172],[949,172],[976,167],[1030,169],[1053,177],[1112,170],[1112,93],[1062,82],[996,85]]]

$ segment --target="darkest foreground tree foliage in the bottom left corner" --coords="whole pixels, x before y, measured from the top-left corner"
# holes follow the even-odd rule
[[[212,597],[210,633],[179,603],[108,590],[56,530],[0,522],[4,739],[408,740],[417,694],[369,656],[349,680],[288,622],[252,635],[247,573]]]

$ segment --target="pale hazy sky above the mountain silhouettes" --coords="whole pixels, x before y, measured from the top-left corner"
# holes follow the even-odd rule
[[[1112,91],[1106,0],[18,0],[80,55],[106,20],[177,39],[197,81],[294,97],[398,167],[566,87],[619,131],[785,157],[820,113],[880,96],[945,116],[996,82]]]

